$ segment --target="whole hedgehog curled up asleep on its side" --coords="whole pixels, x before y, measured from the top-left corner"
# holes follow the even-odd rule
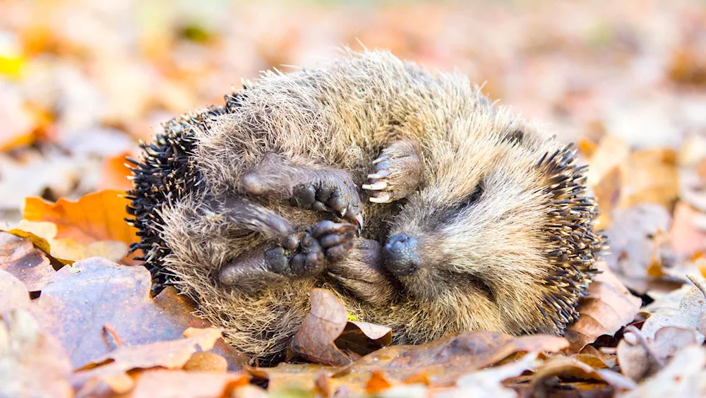
[[[313,287],[404,344],[578,317],[604,246],[585,167],[464,76],[345,52],[225,98],[143,145],[129,211],[242,351],[282,354]]]

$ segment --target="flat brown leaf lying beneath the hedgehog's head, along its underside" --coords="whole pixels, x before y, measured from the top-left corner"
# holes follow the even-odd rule
[[[485,368],[518,352],[556,352],[568,348],[563,337],[537,334],[511,337],[496,332],[466,332],[418,346],[390,346],[360,358],[335,373],[369,375],[383,372],[387,380],[403,381],[424,375],[431,385],[451,385],[460,375]]]

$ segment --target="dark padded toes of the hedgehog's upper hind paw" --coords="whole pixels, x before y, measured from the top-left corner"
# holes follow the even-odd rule
[[[357,197],[330,183],[313,183],[294,187],[292,201],[309,210],[328,211],[362,227],[361,205]]]

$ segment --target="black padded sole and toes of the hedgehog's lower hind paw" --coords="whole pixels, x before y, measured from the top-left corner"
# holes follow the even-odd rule
[[[308,231],[287,236],[274,248],[265,251],[270,271],[297,277],[318,275],[353,247],[356,227],[333,221],[321,221]]]

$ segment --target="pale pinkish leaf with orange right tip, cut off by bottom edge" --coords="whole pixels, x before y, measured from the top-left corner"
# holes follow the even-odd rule
[[[233,397],[234,390],[246,385],[248,377],[239,373],[150,369],[140,373],[127,397]]]

